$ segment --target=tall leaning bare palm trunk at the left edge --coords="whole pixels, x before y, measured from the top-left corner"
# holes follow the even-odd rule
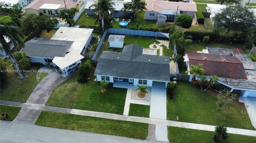
[[[18,65],[17,65],[17,63],[16,63],[16,60],[15,60],[15,58],[13,57],[13,55],[12,55],[10,49],[9,49],[9,45],[6,43],[6,41],[4,40],[4,37],[3,37],[2,35],[1,35],[0,39],[1,39],[1,43],[2,43],[2,46],[3,46],[4,52],[5,52],[7,55],[9,55],[9,57],[10,57],[10,59],[11,59],[11,61],[12,61],[12,64],[13,64],[14,68],[16,69],[16,71],[17,71],[17,73],[18,73],[18,75],[19,75],[20,80],[23,80],[24,77],[23,77],[23,75],[21,74],[20,69],[19,69],[19,67],[18,67]]]

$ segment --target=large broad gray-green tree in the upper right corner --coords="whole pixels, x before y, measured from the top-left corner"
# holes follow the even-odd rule
[[[230,29],[248,29],[256,22],[255,16],[249,7],[236,5],[222,9],[213,17],[215,26]]]

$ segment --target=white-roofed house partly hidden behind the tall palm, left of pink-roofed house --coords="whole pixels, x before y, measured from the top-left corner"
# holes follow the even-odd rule
[[[94,12],[93,12],[93,9],[94,7],[91,7],[91,9],[89,8],[91,5],[94,4],[94,2],[97,2],[97,0],[88,0],[86,3],[85,3],[85,10],[86,10],[86,15],[94,15]],[[126,1],[113,1],[114,5],[114,11],[113,13],[111,13],[111,15],[114,17],[114,18],[121,18],[125,13],[132,13],[132,11],[130,10],[125,10],[124,11],[124,3],[126,2],[130,2],[129,0],[126,0]]]

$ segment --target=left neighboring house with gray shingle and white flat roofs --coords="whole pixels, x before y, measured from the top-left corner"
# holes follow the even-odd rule
[[[51,39],[33,38],[21,51],[30,62],[58,66],[63,74],[77,69],[92,39],[93,29],[60,27]]]

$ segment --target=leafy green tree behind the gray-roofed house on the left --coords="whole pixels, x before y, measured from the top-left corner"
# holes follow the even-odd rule
[[[58,24],[57,19],[52,19],[48,15],[30,14],[20,19],[21,29],[26,36],[30,34],[39,37],[42,30],[50,32]]]

